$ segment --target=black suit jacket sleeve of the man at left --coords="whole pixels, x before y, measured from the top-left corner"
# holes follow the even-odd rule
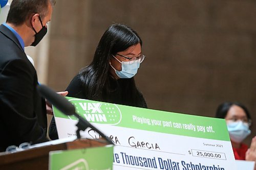
[[[33,108],[35,84],[28,63],[22,59],[9,61],[1,71],[0,82],[0,131],[6,134],[1,143],[47,141]]]

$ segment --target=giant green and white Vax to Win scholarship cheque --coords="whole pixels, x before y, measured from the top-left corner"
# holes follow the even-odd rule
[[[80,116],[113,140],[115,170],[236,169],[224,119],[67,99]],[[54,116],[59,138],[76,136],[76,117],[56,108]],[[92,129],[81,136],[100,137]]]

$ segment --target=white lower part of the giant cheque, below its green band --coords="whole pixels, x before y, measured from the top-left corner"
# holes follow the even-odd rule
[[[59,137],[76,136],[76,121],[58,118]],[[67,126],[69,125],[69,126]],[[116,144],[113,169],[236,169],[229,141],[157,133],[111,125],[93,124]],[[99,138],[94,130],[82,137]]]

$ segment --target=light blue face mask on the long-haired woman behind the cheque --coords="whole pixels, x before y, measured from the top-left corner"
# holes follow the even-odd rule
[[[113,55],[112,55],[113,56]],[[134,77],[137,74],[138,68],[140,67],[140,59],[139,60],[133,60],[133,61],[119,61],[115,56],[113,56],[119,63],[122,65],[122,70],[118,71],[116,70],[111,64],[110,66],[115,70],[116,75],[119,78],[123,79],[129,79]]]

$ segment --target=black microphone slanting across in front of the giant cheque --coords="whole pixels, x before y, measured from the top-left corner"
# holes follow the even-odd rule
[[[62,95],[57,94],[55,91],[53,91],[51,88],[45,86],[45,85],[37,85],[37,90],[41,94],[41,96],[45,99],[47,99],[52,105],[54,105],[58,110],[60,110],[62,113],[66,115],[74,115],[78,118],[77,123],[77,138],[80,138],[80,130],[86,130],[88,127],[95,130],[99,135],[101,135],[106,141],[108,141],[110,144],[114,144],[112,140],[104,135],[101,131],[99,131],[97,128],[95,128],[92,124],[90,124],[86,119],[83,119],[79,114],[75,112],[75,107]]]

